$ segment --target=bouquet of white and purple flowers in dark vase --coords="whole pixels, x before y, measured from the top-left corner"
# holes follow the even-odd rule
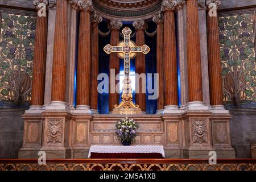
[[[137,129],[139,125],[131,118],[123,118],[115,125],[117,131],[117,139],[121,140],[124,146],[129,146],[135,141]]]

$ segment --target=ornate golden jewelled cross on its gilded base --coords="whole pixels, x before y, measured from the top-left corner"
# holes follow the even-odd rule
[[[130,40],[131,30],[129,27],[123,28],[122,34],[123,42],[119,43],[119,46],[111,46],[108,44],[104,47],[104,51],[108,54],[118,52],[119,56],[122,57],[124,61],[125,78],[123,79],[122,101],[119,105],[116,104],[115,108],[138,108],[139,106],[133,103],[131,80],[129,78],[130,57],[134,57],[138,52],[142,52],[144,55],[146,55],[148,52],[150,52],[150,48],[147,45],[143,45],[141,47],[135,46],[135,44]]]

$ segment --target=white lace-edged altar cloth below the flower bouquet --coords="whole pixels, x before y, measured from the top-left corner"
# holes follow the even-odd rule
[[[88,158],[91,152],[94,153],[159,153],[164,158],[163,146],[91,146]]]

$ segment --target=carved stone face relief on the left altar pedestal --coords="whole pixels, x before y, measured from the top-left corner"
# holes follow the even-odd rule
[[[48,119],[47,143],[61,143],[63,127],[63,119]]]

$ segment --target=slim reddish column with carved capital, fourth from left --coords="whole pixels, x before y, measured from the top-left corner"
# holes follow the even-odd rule
[[[90,86],[90,108],[93,113],[98,113],[98,23],[102,22],[102,17],[93,12],[90,15],[91,25],[91,38],[90,44],[92,47],[91,51],[91,62],[92,62],[92,73],[91,73],[91,86]]]

